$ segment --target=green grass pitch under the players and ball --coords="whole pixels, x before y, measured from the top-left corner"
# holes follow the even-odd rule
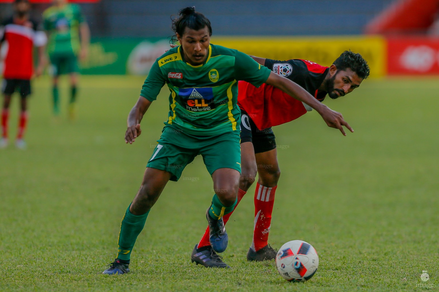
[[[273,128],[282,174],[270,243],[311,243],[320,267],[310,281],[289,283],[273,262],[246,261],[254,186],[227,224],[230,242],[222,255],[233,269],[191,264],[213,195],[201,157],[178,183],[168,183],[152,209],[131,273],[102,275],[167,116],[163,90],[142,121],[141,136],[124,143],[126,116],[143,79],[83,76],[74,122],[66,118],[67,83],[55,120],[49,79],[34,81],[28,149],[0,151],[3,291],[439,289],[436,79],[371,79],[340,100],[327,100],[354,128],[347,137],[315,112]],[[17,112],[14,96],[12,138]],[[426,282],[422,271],[430,275]]]

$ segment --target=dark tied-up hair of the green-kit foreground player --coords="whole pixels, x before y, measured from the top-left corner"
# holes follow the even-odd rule
[[[180,36],[183,35],[185,28],[191,28],[194,30],[200,30],[207,26],[209,28],[209,36],[212,35],[212,27],[210,26],[210,21],[203,14],[195,11],[195,6],[186,7],[178,11],[179,18],[171,18],[172,20],[172,30]],[[176,42],[176,35],[171,38],[172,42]]]

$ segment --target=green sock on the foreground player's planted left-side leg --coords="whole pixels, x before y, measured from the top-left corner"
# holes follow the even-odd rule
[[[130,212],[130,207],[126,209],[120,225],[118,239],[119,249],[116,258],[120,260],[130,260],[134,243],[136,243],[137,236],[140,234],[145,225],[149,211],[150,210],[148,210],[148,212],[146,212],[144,215],[133,215]]]

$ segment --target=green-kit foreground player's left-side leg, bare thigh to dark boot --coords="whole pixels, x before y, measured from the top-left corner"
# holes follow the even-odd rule
[[[149,211],[171,178],[172,173],[147,167],[140,189],[126,209],[118,237],[118,253],[112,266],[102,274],[125,274],[130,271],[130,257],[137,236],[144,228]]]

